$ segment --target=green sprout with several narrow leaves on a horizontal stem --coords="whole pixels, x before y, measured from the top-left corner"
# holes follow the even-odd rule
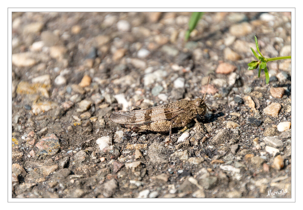
[[[259,73],[258,73],[258,77],[260,77],[261,74],[261,69],[264,69],[265,72],[265,77],[266,77],[266,84],[269,83],[269,74],[268,74],[268,70],[267,70],[267,62],[270,61],[276,61],[276,60],[282,60],[282,59],[291,59],[291,56],[282,56],[282,57],[275,57],[275,58],[265,58],[263,57],[263,55],[260,52],[259,49],[259,44],[258,44],[258,40],[257,37],[255,36],[255,42],[256,42],[256,47],[257,47],[257,51],[260,55],[258,55],[255,50],[251,47],[251,51],[252,53],[254,53],[254,55],[256,56],[256,58],[258,58],[258,61],[252,61],[250,63],[248,63],[248,70],[252,70],[252,69],[256,69],[259,66]]]

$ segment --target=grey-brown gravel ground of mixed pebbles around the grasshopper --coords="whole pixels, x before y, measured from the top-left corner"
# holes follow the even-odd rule
[[[291,14],[12,15],[13,198],[290,198]],[[114,111],[206,94],[186,131],[138,132]],[[280,194],[274,192],[280,192]],[[273,193],[273,194],[271,194]],[[271,195],[268,195],[271,194]]]

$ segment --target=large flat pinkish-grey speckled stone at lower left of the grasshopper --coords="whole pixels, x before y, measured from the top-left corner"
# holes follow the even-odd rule
[[[54,155],[59,151],[60,143],[55,134],[49,134],[41,138],[35,146],[39,149],[37,155]]]

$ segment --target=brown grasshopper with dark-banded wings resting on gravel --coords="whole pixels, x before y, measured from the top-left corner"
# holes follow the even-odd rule
[[[208,82],[203,99],[196,98],[192,101],[182,99],[177,102],[145,109],[135,107],[127,112],[113,112],[109,115],[109,119],[112,122],[124,125],[126,128],[131,128],[135,132],[145,130],[163,132],[169,130],[169,139],[171,137],[171,128],[186,127],[192,119],[201,128],[196,117],[197,114],[200,116],[205,115],[206,108],[208,108],[204,101]]]

